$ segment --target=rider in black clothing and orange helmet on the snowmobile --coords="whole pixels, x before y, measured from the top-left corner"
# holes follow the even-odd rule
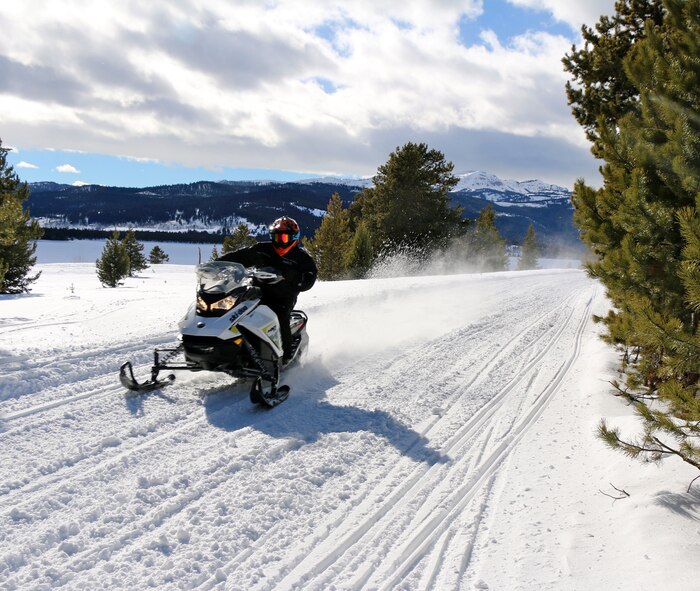
[[[290,217],[281,217],[270,224],[270,241],[239,248],[219,257],[244,267],[274,267],[283,281],[262,286],[261,303],[277,314],[284,349],[283,363],[292,357],[292,329],[289,319],[299,292],[311,289],[318,271],[311,255],[299,244],[301,230]]]

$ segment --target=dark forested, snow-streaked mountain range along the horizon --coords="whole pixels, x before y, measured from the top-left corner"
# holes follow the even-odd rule
[[[570,191],[538,180],[502,180],[485,172],[458,175],[452,202],[476,218],[491,203],[501,234],[520,243],[530,223],[550,248],[580,248],[573,225]],[[371,186],[371,179],[339,177],[303,181],[200,181],[156,187],[73,186],[53,182],[30,183],[28,206],[45,228],[111,230],[133,227],[173,233],[200,231],[220,235],[245,223],[255,234],[280,215],[294,217],[306,235],[313,234],[338,193],[349,205]]]

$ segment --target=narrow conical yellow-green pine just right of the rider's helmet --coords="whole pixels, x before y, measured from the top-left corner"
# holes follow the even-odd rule
[[[333,281],[347,276],[351,241],[348,212],[340,195],[333,193],[313,239],[304,240],[304,247],[316,262],[319,279]]]

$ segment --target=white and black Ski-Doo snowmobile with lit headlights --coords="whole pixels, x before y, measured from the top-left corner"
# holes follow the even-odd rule
[[[136,381],[130,361],[119,370],[122,385],[135,392],[163,388],[174,374],[162,371],[215,371],[252,380],[250,400],[277,406],[289,396],[280,385],[283,369],[298,361],[308,347],[308,317],[301,310],[291,313],[292,356],[283,365],[282,335],[277,314],[261,304],[266,284],[284,281],[274,269],[246,269],[240,263],[213,261],[197,265],[197,296],[179,323],[177,347],[156,348],[151,377]]]

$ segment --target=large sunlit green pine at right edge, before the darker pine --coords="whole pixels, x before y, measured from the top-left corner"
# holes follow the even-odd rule
[[[644,432],[627,441],[602,423],[600,435],[635,457],[678,455],[700,468],[700,0],[665,0],[663,15],[623,60],[638,100],[600,128],[603,187],[579,182],[572,200],[597,257],[589,272],[615,306],[608,339],[639,353],[620,390]]]

